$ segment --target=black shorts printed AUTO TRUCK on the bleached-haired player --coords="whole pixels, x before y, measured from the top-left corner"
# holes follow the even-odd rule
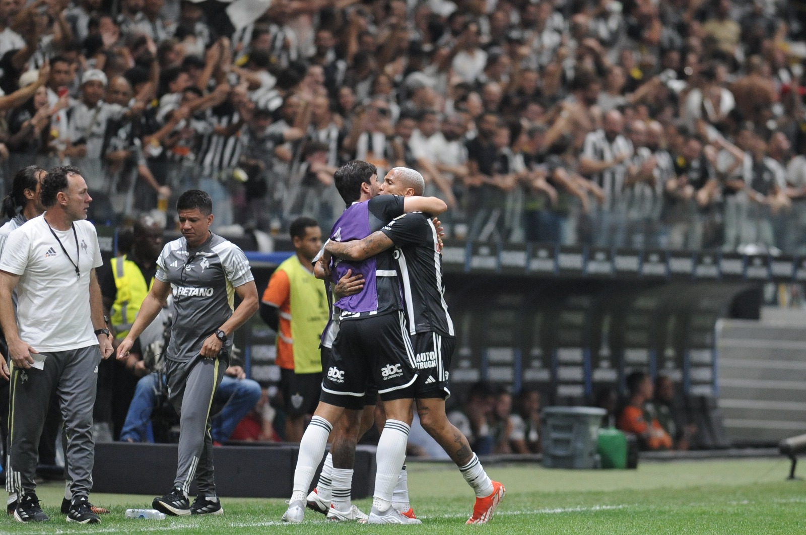
[[[418,400],[430,397],[447,400],[451,397],[448,371],[451,370],[456,338],[437,333],[418,333],[411,337],[411,342],[414,346],[414,363],[420,374],[414,383],[414,397]]]

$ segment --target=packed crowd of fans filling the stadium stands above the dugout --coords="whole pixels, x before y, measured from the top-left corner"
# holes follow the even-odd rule
[[[806,250],[802,2],[247,3],[0,0],[7,168],[278,232],[355,158],[422,171],[448,238]]]

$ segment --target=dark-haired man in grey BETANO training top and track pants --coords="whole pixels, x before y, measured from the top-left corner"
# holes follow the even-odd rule
[[[165,376],[168,399],[180,415],[179,462],[174,488],[154,499],[168,515],[221,514],[215,493],[210,404],[229,361],[232,334],[258,309],[257,288],[246,255],[210,232],[213,201],[199,189],[177,201],[183,237],[165,245],[154,284],[118,347],[125,359],[137,337],[162,309],[173,287],[173,324]],[[241,304],[233,311],[233,292]],[[190,483],[198,496],[189,504]]]

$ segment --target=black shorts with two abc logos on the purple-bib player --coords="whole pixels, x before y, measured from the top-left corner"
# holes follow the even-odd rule
[[[364,397],[370,382],[381,400],[413,398],[418,374],[403,313],[342,320],[322,375],[322,400],[339,407]]]

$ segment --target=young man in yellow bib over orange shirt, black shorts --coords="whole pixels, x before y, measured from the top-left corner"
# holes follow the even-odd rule
[[[314,277],[314,257],[322,248],[322,230],[316,220],[291,223],[296,255],[280,263],[268,281],[260,303],[260,317],[277,332],[276,364],[287,413],[285,440],[300,442],[322,389],[319,339],[327,325],[325,285]]]

